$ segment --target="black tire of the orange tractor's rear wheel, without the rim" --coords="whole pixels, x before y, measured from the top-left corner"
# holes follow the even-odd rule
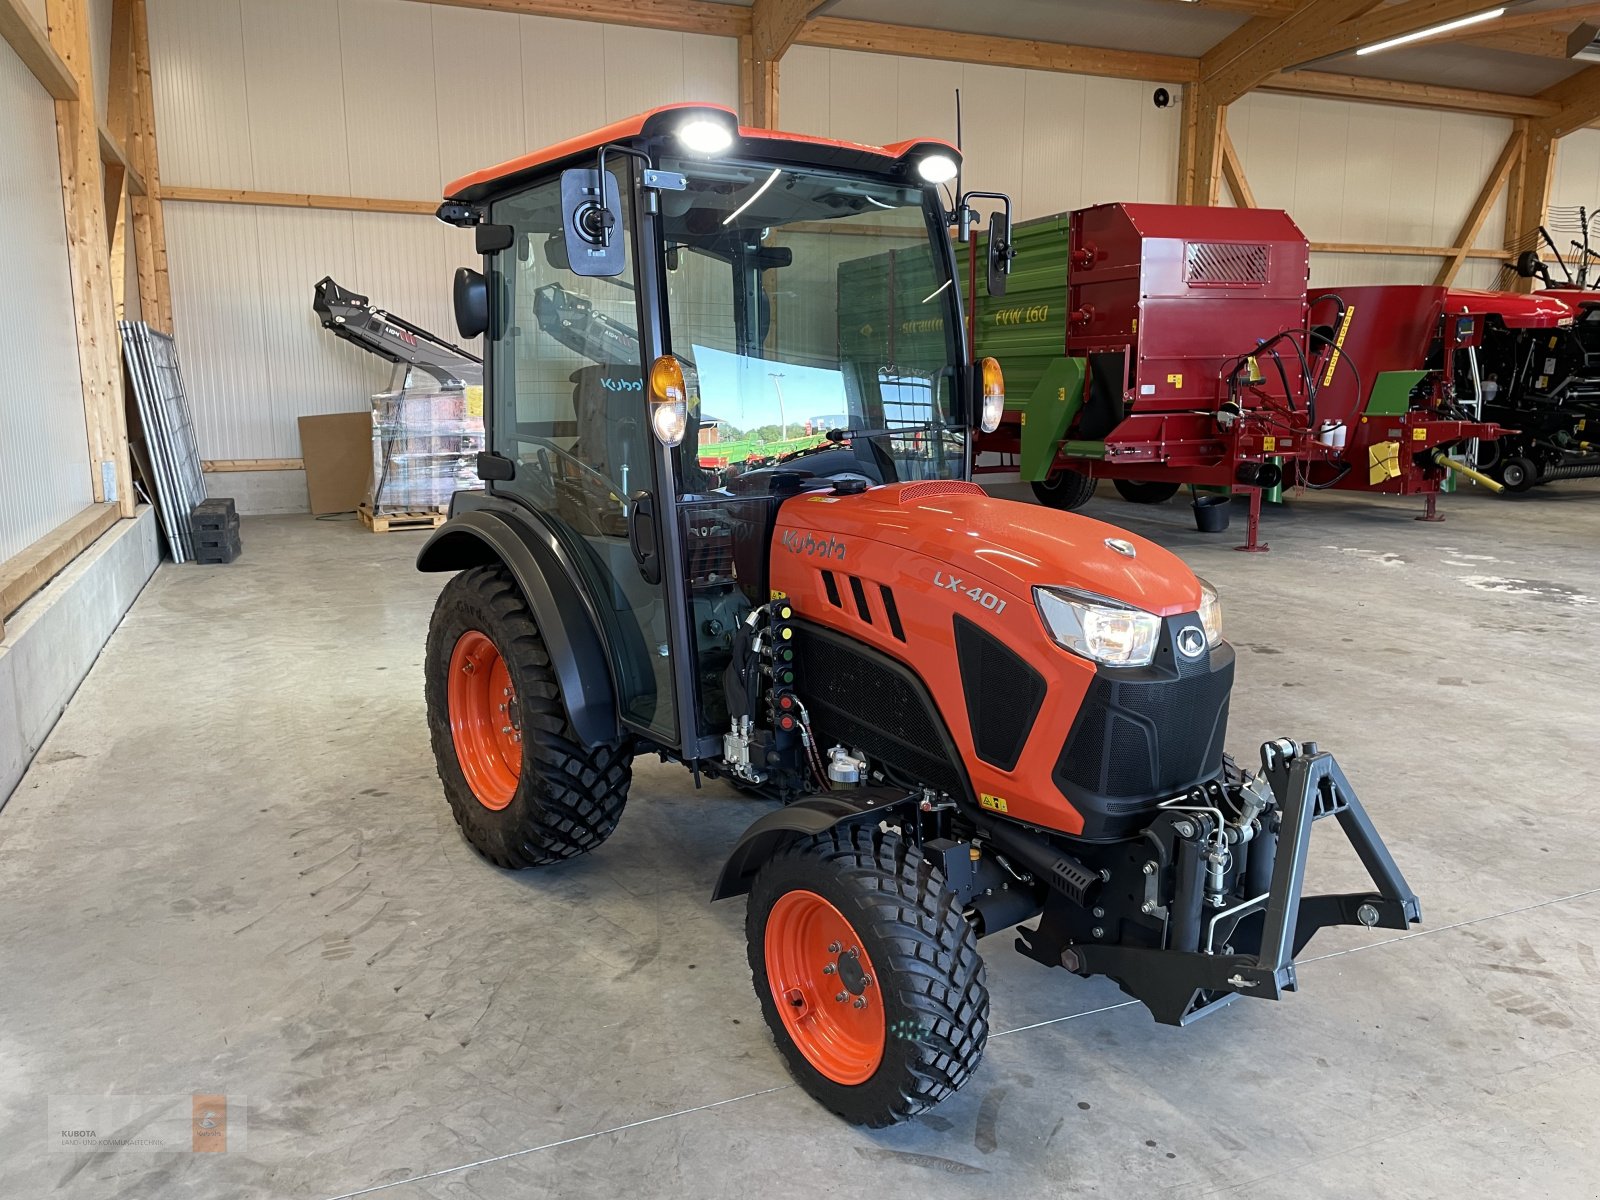
[[[451,730],[451,654],[474,630],[494,643],[515,691],[522,770],[502,808],[472,790]],[[602,746],[578,739],[549,650],[504,566],[474,566],[445,584],[427,629],[426,686],[438,778],[475,851],[496,867],[523,870],[576,858],[611,835],[627,803],[632,757],[622,739]]]

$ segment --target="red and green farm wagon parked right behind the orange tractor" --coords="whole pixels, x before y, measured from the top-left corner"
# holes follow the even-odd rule
[[[1019,469],[1053,507],[1082,506],[1101,478],[1147,504],[1229,488],[1250,496],[1243,549],[1266,549],[1262,493],[1338,485],[1432,509],[1466,470],[1445,450],[1498,437],[1426,389],[1398,426],[1355,419],[1373,376],[1339,344],[1350,306],[1307,294],[1310,246],[1286,213],[1096,205],[1018,226],[1013,253],[1006,296],[970,293],[978,352],[1008,381],[1005,419],[978,443],[1003,458],[978,470]]]

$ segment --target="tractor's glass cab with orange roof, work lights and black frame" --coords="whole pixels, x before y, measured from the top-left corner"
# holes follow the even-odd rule
[[[458,318],[485,334],[486,499],[538,514],[624,723],[674,755],[722,744],[784,496],[966,477],[981,382],[936,189],[955,173],[942,142],[675,106],[448,189],[485,253]]]

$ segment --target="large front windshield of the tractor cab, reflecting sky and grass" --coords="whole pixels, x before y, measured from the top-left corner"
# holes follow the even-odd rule
[[[773,469],[960,475],[960,315],[931,198],[816,170],[662,166],[686,179],[661,192],[669,347],[699,395],[682,490]]]

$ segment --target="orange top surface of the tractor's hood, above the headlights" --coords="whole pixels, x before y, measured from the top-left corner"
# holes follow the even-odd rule
[[[838,570],[848,570],[856,539],[907,550],[1018,600],[1030,600],[1037,586],[1053,586],[1158,616],[1200,608],[1200,582],[1170,550],[1090,517],[995,499],[976,483],[926,480],[858,494],[808,491],[778,514],[778,554],[832,558]],[[917,571],[912,563],[907,570]]]

